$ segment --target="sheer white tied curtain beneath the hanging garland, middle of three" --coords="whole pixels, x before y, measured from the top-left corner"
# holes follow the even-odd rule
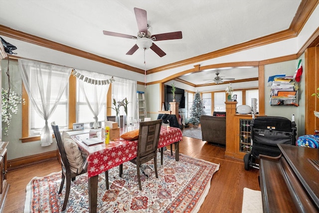
[[[85,70],[76,70],[78,73],[82,74],[83,76],[90,76],[90,78],[95,80],[106,80],[110,79],[112,76],[100,74],[96,72],[89,72]],[[84,79],[78,79],[79,87],[81,92],[83,93],[83,96],[86,100],[86,103],[90,109],[90,111],[93,114],[93,128],[97,129],[100,127],[99,125],[99,114],[101,110],[104,108],[103,106],[106,106],[106,95],[109,90],[110,84],[91,84],[88,82],[84,82]],[[103,118],[105,121],[106,118]]]

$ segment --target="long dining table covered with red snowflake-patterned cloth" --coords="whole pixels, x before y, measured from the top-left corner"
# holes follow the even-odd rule
[[[97,134],[101,138],[101,133]],[[118,138],[111,140],[109,144],[104,142],[86,145],[83,140],[90,138],[89,133],[76,133],[73,131],[71,137],[79,146],[81,152],[87,155],[87,174],[89,192],[89,212],[97,212],[98,175],[119,166],[137,157],[138,140],[125,140]],[[101,139],[102,140],[102,139]],[[163,148],[170,145],[172,155],[172,144],[175,149],[175,160],[179,161],[179,142],[182,140],[182,132],[179,128],[161,126],[158,148],[160,149],[161,162],[163,164]]]

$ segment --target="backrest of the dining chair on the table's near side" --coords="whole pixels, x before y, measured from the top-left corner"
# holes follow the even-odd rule
[[[138,158],[156,154],[160,138],[161,122],[162,120],[140,123]]]

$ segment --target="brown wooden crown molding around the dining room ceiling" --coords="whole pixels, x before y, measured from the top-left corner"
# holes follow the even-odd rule
[[[219,49],[219,50],[209,52],[206,54],[198,55],[198,56],[195,56],[192,58],[188,58],[185,60],[181,60],[181,61],[167,64],[164,66],[153,68],[153,69],[147,70],[147,74],[152,74],[152,73],[160,72],[160,71],[163,71],[166,69],[172,69],[172,68],[192,64],[192,63],[198,63],[200,61],[212,59],[215,57],[220,57],[223,55],[228,55],[231,53],[235,53],[235,52],[255,48],[258,46],[263,46],[263,45],[266,45],[269,43],[274,43],[274,42],[278,42],[278,41],[282,41],[285,39],[296,37],[296,36],[298,36],[300,31],[302,30],[303,26],[305,25],[305,23],[307,22],[307,20],[311,16],[314,9],[317,7],[318,3],[319,3],[319,0],[302,0],[299,7],[298,7],[296,15],[290,24],[290,27],[286,30],[283,30],[283,31],[280,31],[277,33],[273,33],[270,35],[266,35],[266,36],[263,36],[260,38],[256,38],[256,39],[253,39],[253,40],[241,43],[241,44],[237,44],[237,45],[233,45],[233,46],[226,47],[223,49]],[[129,66],[127,64],[123,64],[123,63],[120,63],[118,61],[104,58],[104,57],[101,57],[101,56],[98,56],[95,54],[91,54],[89,52],[85,52],[85,51],[82,51],[82,50],[79,50],[79,49],[76,49],[76,48],[73,48],[70,46],[66,46],[66,45],[63,45],[63,44],[60,44],[60,43],[57,43],[54,41],[50,41],[50,40],[47,40],[47,39],[44,39],[44,38],[41,38],[38,36],[24,33],[24,32],[18,31],[18,30],[14,30],[14,29],[11,29],[11,28],[3,26],[3,25],[0,25],[0,34],[7,36],[7,37],[14,38],[14,39],[18,39],[21,41],[25,41],[25,42],[36,44],[39,46],[43,46],[46,48],[54,49],[57,51],[63,51],[65,53],[69,53],[69,54],[76,55],[79,57],[87,58],[90,60],[94,60],[97,62],[108,64],[111,66],[116,66],[119,68],[123,68],[126,70],[137,72],[140,74],[145,74],[145,70],[142,70],[142,69],[139,69],[136,67],[132,67],[132,66]],[[312,42],[312,41],[310,40],[309,42]]]

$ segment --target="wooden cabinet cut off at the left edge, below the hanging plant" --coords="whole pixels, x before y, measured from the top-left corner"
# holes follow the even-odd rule
[[[0,212],[3,211],[5,198],[9,190],[9,184],[6,181],[6,146],[8,142],[0,142]]]

